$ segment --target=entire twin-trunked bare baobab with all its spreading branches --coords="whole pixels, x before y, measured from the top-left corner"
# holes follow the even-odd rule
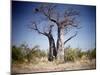
[[[53,56],[53,51],[55,51],[54,55],[57,56],[57,60],[64,61],[64,44],[66,44],[69,40],[74,38],[77,33],[69,37],[68,39],[64,40],[64,32],[68,31],[69,28],[78,28],[79,22],[77,20],[77,16],[79,16],[79,12],[72,9],[64,9],[63,11],[59,12],[57,4],[41,4],[37,8],[34,9],[35,13],[42,14],[45,16],[46,21],[53,22],[54,25],[57,26],[57,43],[55,47],[55,41],[52,36],[52,26],[49,27],[49,33],[42,33],[38,30],[37,25],[35,24],[34,30],[38,33],[43,34],[48,37],[49,39],[49,54]],[[53,26],[54,26],[53,25]],[[50,36],[50,37],[49,37]],[[52,46],[51,46],[52,45]],[[53,48],[53,49],[52,49]]]

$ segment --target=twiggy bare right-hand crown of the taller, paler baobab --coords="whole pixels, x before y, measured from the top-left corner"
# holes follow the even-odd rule
[[[77,21],[77,16],[79,16],[79,12],[69,8],[68,10],[65,10],[63,14],[64,18],[62,21],[59,22],[59,25],[61,27],[66,27],[66,26],[72,26],[72,27],[78,27],[78,21]]]

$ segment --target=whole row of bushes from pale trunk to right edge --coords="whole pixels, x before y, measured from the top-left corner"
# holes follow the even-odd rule
[[[96,48],[93,50],[88,51],[81,51],[80,49],[72,49],[72,48],[66,48],[65,54],[64,54],[64,60],[66,61],[75,61],[78,59],[82,59],[85,57],[85,59],[95,59],[96,58]]]

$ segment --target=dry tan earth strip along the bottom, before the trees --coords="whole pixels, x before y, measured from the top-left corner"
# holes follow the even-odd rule
[[[50,72],[50,71],[67,71],[67,70],[80,70],[80,69],[95,69],[96,61],[93,60],[80,60],[75,62],[66,62],[57,64],[54,62],[40,61],[38,64],[23,63],[12,64],[12,73],[33,73],[33,72]]]

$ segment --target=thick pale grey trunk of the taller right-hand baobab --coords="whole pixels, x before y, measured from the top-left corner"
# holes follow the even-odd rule
[[[58,27],[57,60],[64,61],[64,29]]]

